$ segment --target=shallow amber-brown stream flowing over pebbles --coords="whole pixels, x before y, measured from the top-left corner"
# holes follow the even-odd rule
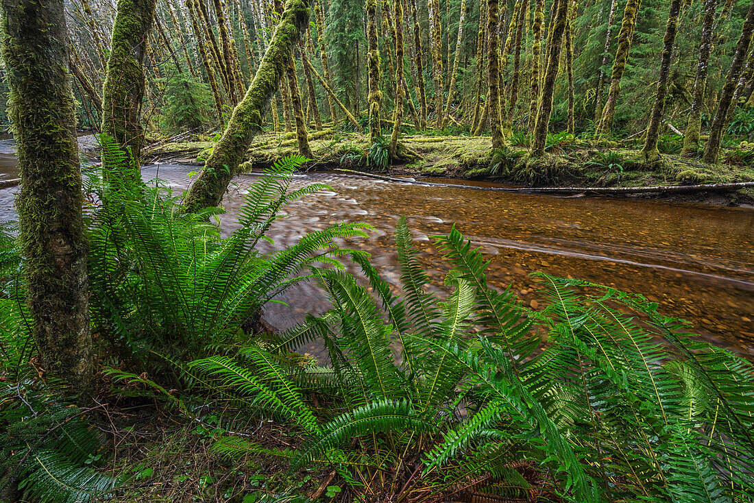
[[[0,141],[0,156],[5,152],[3,143]],[[0,163],[5,160],[0,157]],[[143,176],[159,177],[182,190],[192,170],[198,168],[151,164],[144,167]],[[17,176],[5,164],[0,164],[0,173],[2,178]],[[233,228],[234,213],[256,179],[255,175],[234,179],[225,200],[228,213],[222,216],[225,229]],[[492,260],[489,283],[499,288],[512,284],[520,298],[534,308],[539,305],[529,272],[587,279],[644,293],[661,302],[665,314],[694,322],[700,338],[754,357],[752,208],[484,192],[337,173],[297,174],[293,186],[313,182],[325,183],[332,191],[287,207],[285,216],[268,234],[276,247],[293,244],[305,232],[336,222],[367,222],[376,229],[369,238],[349,239],[343,245],[371,253],[383,277],[397,284],[394,228],[405,215],[419,258],[441,290],[448,265],[431,236],[446,234],[455,224]],[[0,190],[2,219],[14,215],[14,192],[17,189]],[[280,304],[265,308],[265,319],[278,328],[293,326],[306,312],[319,313],[329,307],[314,284],[296,287],[280,300],[290,308]],[[316,346],[300,349],[321,356],[321,348]]]

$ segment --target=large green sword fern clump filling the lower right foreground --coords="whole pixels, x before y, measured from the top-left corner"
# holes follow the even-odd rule
[[[273,405],[308,437],[296,451],[234,438],[216,449],[279,455],[292,468],[333,465],[365,496],[442,498],[480,480],[525,490],[511,468],[523,456],[549,471],[566,501],[732,501],[754,489],[750,363],[692,339],[685,322],[642,296],[584,281],[535,273],[544,311],[532,311],[486,284],[486,262],[455,229],[439,243],[453,266],[444,301],[426,293],[402,220],[402,296],[356,254],[377,302],[350,275],[320,270],[332,311],[264,350],[195,362],[224,391]],[[274,358],[314,338],[332,367]],[[302,390],[314,382],[334,403],[307,413]],[[418,466],[409,488],[369,482],[403,481]]]

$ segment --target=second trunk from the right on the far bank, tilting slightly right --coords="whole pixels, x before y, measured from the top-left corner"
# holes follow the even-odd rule
[[[694,97],[691,99],[691,109],[688,112],[688,123],[683,135],[683,150],[681,151],[681,155],[685,157],[694,157],[699,149],[699,136],[702,130],[702,107],[704,91],[706,90],[706,75],[710,68],[712,28],[715,23],[716,7],[717,0],[704,1],[704,19],[702,21],[702,38],[699,43],[697,76],[694,79]]]

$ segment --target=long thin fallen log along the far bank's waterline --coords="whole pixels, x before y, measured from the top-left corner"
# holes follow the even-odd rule
[[[703,191],[728,191],[754,187],[754,182],[735,182],[735,183],[711,183],[706,185],[688,185],[688,186],[649,186],[649,187],[479,187],[467,186],[460,183],[437,183],[421,182],[416,179],[399,178],[397,176],[383,176],[374,173],[365,173],[363,171],[345,170],[336,168],[336,171],[342,173],[351,173],[360,176],[369,176],[369,178],[382,179],[388,182],[413,183],[430,187],[446,187],[449,189],[474,189],[486,190],[491,192],[540,192],[545,194],[642,194],[648,192],[703,192]]]

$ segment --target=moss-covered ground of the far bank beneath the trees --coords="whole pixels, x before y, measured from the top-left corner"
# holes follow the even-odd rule
[[[370,162],[369,138],[360,133],[325,129],[312,131],[309,144],[313,161],[309,170],[387,171],[415,177],[474,179],[530,187],[645,187],[716,184],[754,181],[754,143],[741,143],[722,153],[724,164],[706,166],[678,153],[661,154],[659,161],[644,162],[640,141],[618,143],[553,135],[543,157],[527,161],[524,145],[493,152],[489,136],[403,136],[401,159],[391,166]],[[148,161],[201,164],[213,148],[210,139],[155,143],[146,149]],[[667,152],[679,150],[670,145]],[[258,136],[241,170],[269,166],[286,155],[298,153],[295,133]],[[385,152],[386,154],[387,152]],[[609,156],[606,158],[605,156]],[[371,164],[371,165],[370,165]],[[754,204],[754,189],[730,192],[654,193],[642,197],[707,204]]]

